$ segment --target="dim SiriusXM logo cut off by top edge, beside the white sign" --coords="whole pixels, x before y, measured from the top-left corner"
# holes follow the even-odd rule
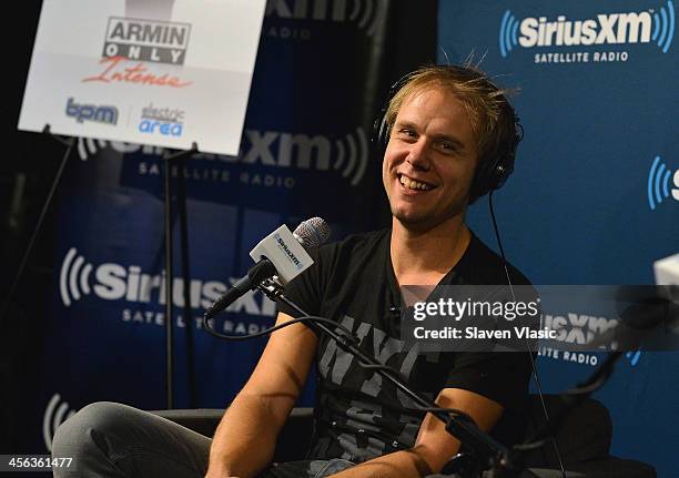
[[[386,16],[386,0],[270,0],[266,16],[283,19],[352,22],[367,35],[375,34]]]

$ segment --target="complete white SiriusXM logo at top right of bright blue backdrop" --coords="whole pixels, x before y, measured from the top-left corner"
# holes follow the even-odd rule
[[[659,13],[653,9],[641,12],[599,13],[596,18],[586,20],[569,20],[561,14],[556,20],[548,20],[547,17],[526,17],[519,21],[506,10],[500,21],[499,49],[500,54],[506,58],[518,47],[528,49],[653,42],[667,53],[673,34],[672,0],[668,0],[667,7],[662,6]]]

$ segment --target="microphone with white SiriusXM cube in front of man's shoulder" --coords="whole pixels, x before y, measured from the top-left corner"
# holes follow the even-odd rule
[[[214,317],[264,279],[274,277],[287,284],[314,263],[305,247],[318,247],[330,234],[327,223],[321,217],[302,222],[294,233],[282,225],[268,234],[250,252],[256,264],[205,311],[205,318]]]

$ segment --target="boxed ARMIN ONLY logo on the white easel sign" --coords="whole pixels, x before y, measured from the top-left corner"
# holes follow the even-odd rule
[[[184,64],[191,24],[110,17],[103,58]]]

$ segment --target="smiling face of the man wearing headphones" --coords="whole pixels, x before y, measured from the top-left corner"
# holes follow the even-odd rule
[[[382,180],[392,214],[416,230],[462,215],[477,163],[463,104],[439,87],[406,96],[384,154]]]

